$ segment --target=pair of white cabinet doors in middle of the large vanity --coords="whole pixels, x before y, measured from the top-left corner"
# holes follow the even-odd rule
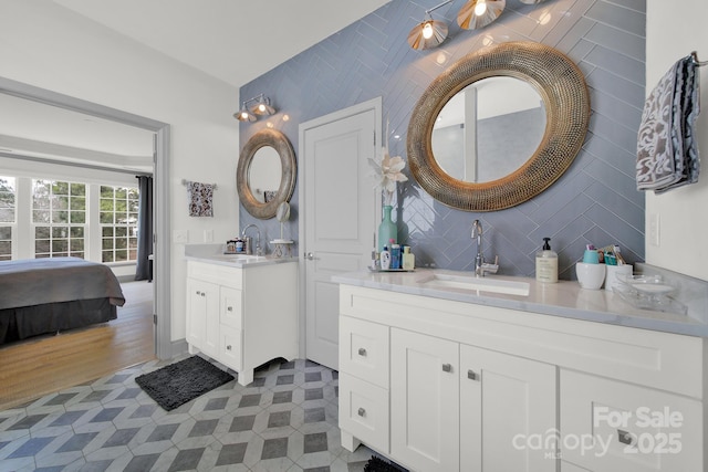
[[[555,366],[392,328],[392,455],[424,471],[555,471]]]

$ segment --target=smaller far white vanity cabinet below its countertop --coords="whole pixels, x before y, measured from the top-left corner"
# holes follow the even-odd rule
[[[253,368],[298,355],[298,264],[187,261],[187,343],[253,381]]]

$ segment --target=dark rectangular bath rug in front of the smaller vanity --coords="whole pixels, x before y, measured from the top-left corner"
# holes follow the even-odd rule
[[[231,380],[231,374],[199,356],[135,378],[135,382],[167,411]]]

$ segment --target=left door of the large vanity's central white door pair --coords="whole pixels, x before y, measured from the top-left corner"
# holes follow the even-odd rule
[[[391,453],[420,471],[459,470],[459,345],[391,329]]]

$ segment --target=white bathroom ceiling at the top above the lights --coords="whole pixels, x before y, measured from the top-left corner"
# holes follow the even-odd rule
[[[391,0],[54,0],[236,87]]]

